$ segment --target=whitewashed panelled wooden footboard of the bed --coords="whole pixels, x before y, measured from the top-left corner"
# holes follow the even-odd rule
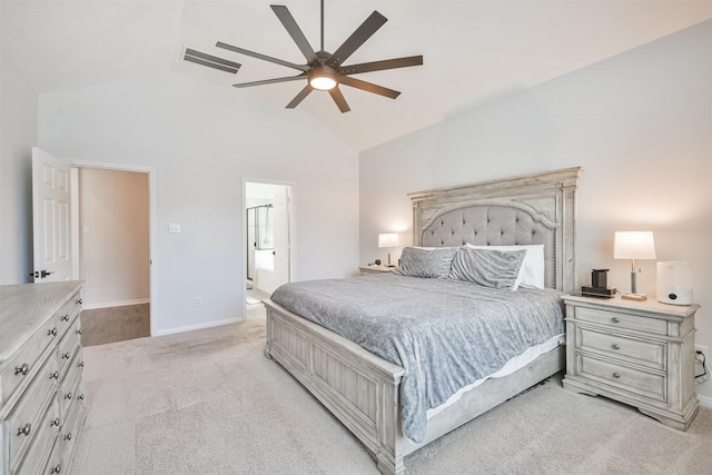
[[[382,473],[404,473],[396,439],[405,370],[271,300],[265,307],[265,356],[324,404],[366,446]]]

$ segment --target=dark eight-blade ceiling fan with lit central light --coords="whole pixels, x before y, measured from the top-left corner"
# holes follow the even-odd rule
[[[234,85],[236,88],[247,88],[253,86],[274,85],[277,82],[297,81],[301,79],[307,80],[307,85],[287,105],[287,109],[294,109],[313,90],[328,91],[336,102],[336,106],[342,112],[348,112],[350,108],[344,98],[339,89],[339,85],[349,86],[352,88],[362,89],[364,91],[373,92],[376,95],[385,96],[390,99],[395,99],[400,95],[399,91],[384,88],[383,86],[374,85],[372,82],[363,81],[360,79],[353,78],[352,75],[358,75],[362,72],[383,71],[386,69],[406,68],[409,66],[423,65],[423,56],[411,56],[405,58],[386,59],[380,61],[362,62],[358,65],[344,66],[346,61],[368,38],[370,38],[383,24],[388,21],[386,17],[374,11],[370,16],[352,33],[350,37],[344,41],[334,52],[327,52],[324,50],[324,0],[322,0],[322,43],[318,51],[314,51],[306,37],[299,29],[299,26],[295,21],[291,13],[285,6],[273,4],[270,6],[281,24],[287,29],[287,32],[294,40],[294,42],[304,55],[306,59],[305,65],[296,65],[294,62],[284,61],[281,59],[273,58],[269,56],[260,55],[258,52],[249,51],[244,48],[234,47],[218,41],[216,44],[218,48],[222,48],[229,51],[234,51],[240,55],[249,56],[253,58],[261,59],[264,61],[274,62],[276,65],[286,66],[287,68],[301,71],[297,76],[289,76],[286,78],[265,79],[260,81],[243,82]]]

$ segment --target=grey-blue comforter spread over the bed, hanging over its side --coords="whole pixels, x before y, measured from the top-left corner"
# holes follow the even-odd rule
[[[271,300],[405,368],[403,433],[422,442],[427,409],[564,331],[560,295],[380,274],[287,284]]]

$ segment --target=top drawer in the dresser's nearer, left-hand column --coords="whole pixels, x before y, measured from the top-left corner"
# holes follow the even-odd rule
[[[0,404],[4,404],[14,390],[24,382],[31,378],[38,362],[49,346],[57,342],[57,324],[49,320],[40,327],[30,340],[17,354],[10,357],[0,368]]]

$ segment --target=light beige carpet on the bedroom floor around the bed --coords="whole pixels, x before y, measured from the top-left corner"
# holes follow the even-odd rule
[[[278,364],[265,323],[85,348],[75,475],[377,474],[364,447]],[[561,380],[406,458],[409,474],[709,474],[712,410],[678,432]]]

